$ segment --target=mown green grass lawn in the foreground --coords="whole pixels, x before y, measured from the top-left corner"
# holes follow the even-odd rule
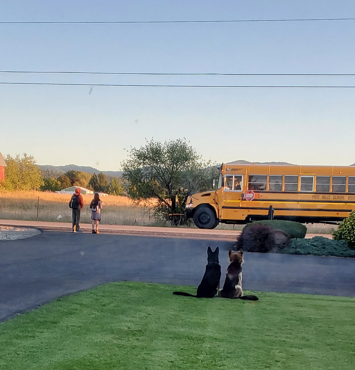
[[[353,369],[355,298],[111,283],[0,324],[0,369]]]

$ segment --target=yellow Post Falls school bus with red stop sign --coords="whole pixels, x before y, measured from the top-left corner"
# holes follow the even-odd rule
[[[262,219],[336,223],[355,209],[355,166],[222,164],[216,190],[189,195],[202,229]]]

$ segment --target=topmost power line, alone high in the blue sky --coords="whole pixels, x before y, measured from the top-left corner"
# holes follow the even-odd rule
[[[300,21],[352,21],[355,18],[305,18],[305,19],[233,19],[195,21],[33,21],[0,22],[0,24],[127,24],[127,23],[237,23],[237,22],[300,22]]]

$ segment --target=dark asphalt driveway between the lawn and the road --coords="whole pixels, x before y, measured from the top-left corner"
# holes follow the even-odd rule
[[[223,276],[228,241],[55,231],[0,241],[0,321],[105,282],[197,286],[209,245],[220,248]],[[245,253],[243,288],[355,296],[354,264],[335,257]]]

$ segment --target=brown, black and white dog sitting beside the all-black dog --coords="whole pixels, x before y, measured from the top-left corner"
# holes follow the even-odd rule
[[[248,300],[258,300],[257,296],[243,295],[242,289],[242,264],[244,263],[243,250],[233,252],[229,249],[229,266],[227,269],[226,280],[222,290],[218,290],[218,296],[222,298],[239,298]]]

